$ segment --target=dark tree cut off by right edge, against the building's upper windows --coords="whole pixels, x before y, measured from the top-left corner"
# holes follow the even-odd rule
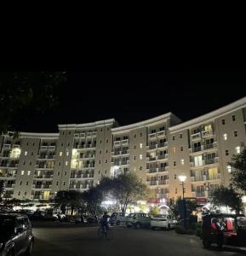
[[[232,171],[232,183],[237,189],[246,193],[246,148],[240,154],[233,154],[232,161],[228,163]]]

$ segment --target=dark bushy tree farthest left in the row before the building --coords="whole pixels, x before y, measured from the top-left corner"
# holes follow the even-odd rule
[[[76,190],[60,190],[54,197],[56,207],[60,207],[63,214],[66,212],[66,208],[71,208],[71,214],[79,207],[83,207],[83,194]]]

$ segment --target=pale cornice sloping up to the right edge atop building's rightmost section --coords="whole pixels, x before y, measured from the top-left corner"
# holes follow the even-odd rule
[[[222,108],[218,108],[212,112],[205,113],[197,118],[188,120],[179,125],[174,125],[172,127],[169,127],[169,131],[176,132],[176,131],[180,131],[180,130],[184,130],[184,129],[190,129],[193,126],[199,125],[206,121],[210,121],[211,119],[220,118],[221,116],[223,116],[227,113],[231,113],[232,111],[235,111],[240,108],[246,108],[246,96],[237,100],[236,102],[232,102]]]

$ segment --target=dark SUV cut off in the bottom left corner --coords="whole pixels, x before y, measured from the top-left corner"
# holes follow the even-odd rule
[[[31,254],[34,236],[31,222],[20,213],[0,213],[0,255]]]

